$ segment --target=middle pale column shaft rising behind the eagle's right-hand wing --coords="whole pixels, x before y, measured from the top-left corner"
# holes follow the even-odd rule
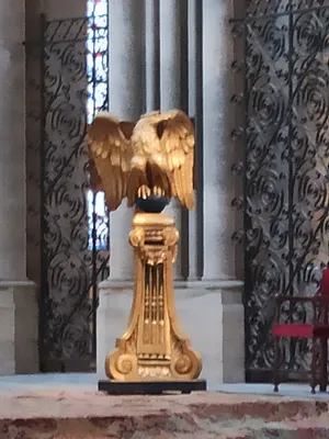
[[[181,95],[181,16],[180,0],[160,0],[160,109],[168,111],[180,109]],[[186,78],[188,79],[188,78]],[[182,207],[178,200],[172,200],[166,209],[172,215],[178,230],[182,232]],[[182,280],[181,236],[174,279]]]

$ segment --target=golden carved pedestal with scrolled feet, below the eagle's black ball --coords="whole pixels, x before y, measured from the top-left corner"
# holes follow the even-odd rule
[[[164,214],[137,213],[129,243],[136,281],[128,328],[105,361],[110,379],[121,382],[196,380],[198,354],[183,334],[174,305],[172,264],[179,233]]]

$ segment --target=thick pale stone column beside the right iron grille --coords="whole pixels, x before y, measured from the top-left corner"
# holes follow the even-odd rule
[[[211,379],[224,382],[245,379],[242,282],[236,280],[231,241],[235,213],[230,203],[236,184],[230,171],[235,147],[230,137],[235,47],[229,19],[232,16],[231,0],[203,1],[203,283],[209,292],[209,306],[217,309],[207,344],[213,346],[218,372],[211,373]]]

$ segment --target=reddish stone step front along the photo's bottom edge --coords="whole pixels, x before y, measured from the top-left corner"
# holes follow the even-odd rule
[[[262,424],[262,425],[261,425]],[[320,439],[329,437],[328,421],[315,423],[269,423],[258,419],[241,421],[234,419],[216,423],[195,423],[195,419],[180,418],[155,420],[143,419],[29,419],[1,420],[1,439]]]

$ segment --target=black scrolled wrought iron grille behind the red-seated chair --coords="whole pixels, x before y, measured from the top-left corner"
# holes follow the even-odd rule
[[[273,297],[314,294],[329,260],[328,0],[247,1],[234,21],[236,95],[243,124],[234,131],[245,158],[246,369],[262,380],[272,367]],[[238,235],[237,235],[238,236]],[[305,308],[286,313],[304,322]],[[283,367],[309,367],[309,345],[286,342]]]

